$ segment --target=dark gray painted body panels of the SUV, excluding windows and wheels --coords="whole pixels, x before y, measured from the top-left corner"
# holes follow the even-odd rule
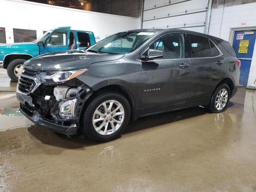
[[[216,39],[206,34],[178,29],[141,29],[134,31],[156,32],[142,46],[129,54],[95,54],[83,51],[62,51],[34,58],[25,67],[37,70],[71,70],[88,68],[78,79],[94,91],[108,85],[123,86],[135,102],[135,118],[174,110],[178,108],[208,104],[216,86],[225,78],[232,80],[234,89],[238,86],[239,68],[237,58],[223,53],[214,58],[184,58],[177,60],[142,61],[140,55],[160,36],[170,32],[190,33]],[[224,41],[224,40],[222,40]],[[188,42],[186,40],[186,42]],[[186,46],[186,51],[190,51]],[[188,53],[190,55],[190,53]],[[216,64],[223,61],[223,64]],[[38,68],[38,63],[43,63]],[[56,68],[59,64],[60,69]],[[181,68],[180,64],[189,67]],[[160,90],[154,90],[160,88]],[[153,91],[146,91],[153,89]],[[233,93],[236,91],[234,90]]]

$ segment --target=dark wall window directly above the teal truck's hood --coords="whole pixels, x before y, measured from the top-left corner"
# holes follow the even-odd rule
[[[36,40],[36,30],[13,29],[14,43]]]

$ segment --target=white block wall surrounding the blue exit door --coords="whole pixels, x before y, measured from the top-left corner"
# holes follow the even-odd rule
[[[212,9],[209,34],[232,43],[234,30],[241,30],[241,22],[246,22],[246,28],[256,29],[256,2],[229,7]],[[252,56],[252,64],[248,84],[256,78],[256,44]]]

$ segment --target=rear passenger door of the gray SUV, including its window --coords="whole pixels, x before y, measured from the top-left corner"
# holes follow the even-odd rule
[[[208,38],[187,34],[191,48],[191,79],[186,106],[207,104],[226,74],[224,56]]]

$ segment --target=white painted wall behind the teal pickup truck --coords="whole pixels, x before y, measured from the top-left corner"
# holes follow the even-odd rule
[[[37,37],[43,31],[61,26],[94,32],[100,39],[106,35],[138,28],[138,20],[132,17],[103,14],[23,0],[0,0],[0,27],[6,29],[6,42],[12,43],[13,28],[36,30]],[[10,37],[10,38],[9,38]]]

